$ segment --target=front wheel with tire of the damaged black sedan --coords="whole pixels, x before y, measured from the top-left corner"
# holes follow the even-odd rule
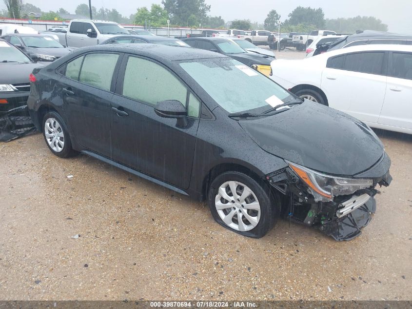
[[[269,188],[240,172],[217,176],[211,184],[208,201],[217,223],[248,237],[266,235],[280,213],[280,204]]]

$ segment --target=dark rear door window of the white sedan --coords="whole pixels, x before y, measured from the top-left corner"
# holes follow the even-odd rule
[[[353,72],[382,74],[385,52],[362,52],[347,54],[343,69]]]

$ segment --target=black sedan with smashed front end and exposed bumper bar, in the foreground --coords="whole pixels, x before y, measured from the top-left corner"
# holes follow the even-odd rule
[[[207,200],[245,236],[283,215],[352,239],[375,211],[375,187],[391,183],[367,125],[221,54],[99,45],[33,74],[29,111],[55,155],[80,151]]]

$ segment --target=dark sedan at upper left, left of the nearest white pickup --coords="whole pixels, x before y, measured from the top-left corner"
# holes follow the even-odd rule
[[[66,56],[73,49],[64,47],[58,41],[43,34],[7,34],[2,39],[12,43],[29,55],[36,55],[39,61],[55,61]]]

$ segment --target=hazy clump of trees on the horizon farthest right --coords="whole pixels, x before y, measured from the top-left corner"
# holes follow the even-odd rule
[[[373,16],[327,19],[326,28],[348,34],[354,33],[356,30],[388,31],[388,25]]]

